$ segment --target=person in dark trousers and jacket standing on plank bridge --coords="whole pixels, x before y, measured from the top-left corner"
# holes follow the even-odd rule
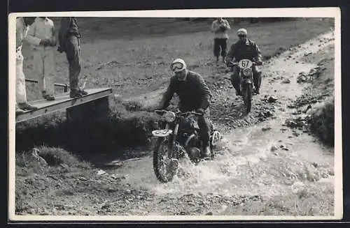
[[[66,58],[69,63],[69,86],[71,98],[79,98],[87,95],[87,91],[78,87],[79,75],[81,71],[81,50],[80,33],[76,17],[63,17],[61,27],[58,33],[59,52],[66,52]]]

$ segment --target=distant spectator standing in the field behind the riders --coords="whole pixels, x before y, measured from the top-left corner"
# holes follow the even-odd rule
[[[224,20],[223,17],[218,17],[218,19],[214,20],[211,24],[211,31],[214,32],[214,56],[216,56],[216,62],[218,62],[221,54],[223,62],[225,63],[225,57],[228,50],[228,30],[230,29],[230,23],[228,20]]]

